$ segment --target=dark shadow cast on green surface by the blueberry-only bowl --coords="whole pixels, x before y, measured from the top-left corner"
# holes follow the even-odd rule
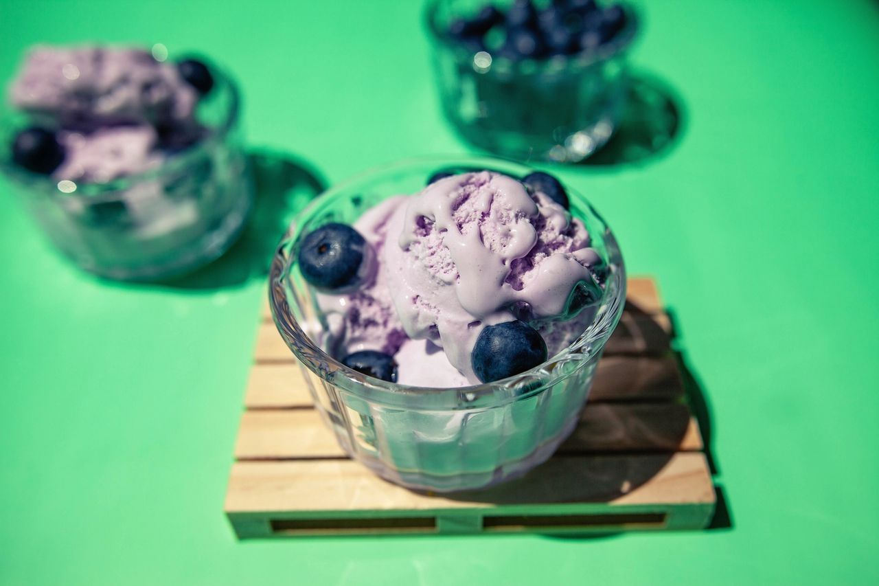
[[[685,111],[669,84],[636,73],[628,87],[626,106],[614,136],[580,164],[584,167],[643,165],[665,157],[680,142]]]

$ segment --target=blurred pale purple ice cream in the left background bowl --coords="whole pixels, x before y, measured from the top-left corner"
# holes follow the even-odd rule
[[[199,93],[140,48],[36,47],[9,88],[18,111],[57,131],[54,179],[105,182],[163,164],[195,143]]]

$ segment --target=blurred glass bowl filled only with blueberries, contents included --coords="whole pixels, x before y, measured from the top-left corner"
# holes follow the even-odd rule
[[[576,163],[625,104],[638,18],[596,0],[432,0],[425,22],[443,112],[476,147]]]

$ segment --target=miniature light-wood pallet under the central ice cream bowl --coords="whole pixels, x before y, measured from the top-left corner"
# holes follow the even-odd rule
[[[259,326],[229,478],[239,538],[705,527],[715,490],[655,282],[628,282],[580,424],[524,478],[465,494],[398,487],[347,458],[271,316]]]

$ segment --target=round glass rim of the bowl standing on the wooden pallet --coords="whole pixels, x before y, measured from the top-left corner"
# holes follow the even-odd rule
[[[309,217],[316,216],[323,206],[328,205],[333,197],[344,194],[352,187],[368,179],[376,179],[391,172],[401,172],[420,165],[435,165],[437,168],[447,167],[472,167],[495,170],[498,172],[531,172],[531,167],[518,161],[503,159],[500,157],[483,157],[474,155],[464,156],[431,156],[410,157],[398,160],[387,165],[379,165],[366,172],[358,173],[350,179],[346,179],[320,194],[314,201],[302,209],[294,218],[290,227],[281,238],[272,259],[269,271],[268,302],[272,311],[272,319],[278,331],[287,344],[287,348],[309,370],[332,385],[339,386],[347,392],[353,392],[368,399],[370,402],[381,403],[388,406],[413,408],[410,400],[413,398],[425,398],[430,403],[430,408],[474,408],[474,407],[499,407],[507,402],[526,399],[539,394],[543,389],[564,378],[570,377],[579,369],[592,362],[593,358],[600,355],[614,327],[619,322],[623,305],[626,299],[626,271],[623,264],[619,246],[616,244],[613,232],[607,227],[604,218],[592,208],[592,205],[576,190],[565,185],[571,201],[571,207],[575,206],[578,211],[585,212],[588,222],[594,228],[595,223],[603,228],[600,238],[607,250],[608,266],[611,269],[607,278],[604,295],[599,302],[599,311],[592,324],[569,346],[563,348],[556,355],[549,356],[547,361],[526,370],[525,372],[507,377],[490,383],[480,385],[468,385],[461,387],[425,387],[416,385],[401,385],[390,383],[374,377],[367,377],[362,373],[352,370],[339,362],[312,340],[290,311],[285,290],[287,269],[294,260],[292,254],[296,243],[296,232],[300,230],[300,224]],[[489,166],[490,165],[490,166]],[[520,177],[521,175],[519,175]],[[393,194],[388,194],[392,196]],[[582,219],[582,218],[581,218]],[[594,238],[594,232],[591,232]],[[570,366],[562,368],[565,363],[577,361],[574,368]],[[557,372],[551,372],[557,370]],[[534,383],[539,385],[534,385]]]

